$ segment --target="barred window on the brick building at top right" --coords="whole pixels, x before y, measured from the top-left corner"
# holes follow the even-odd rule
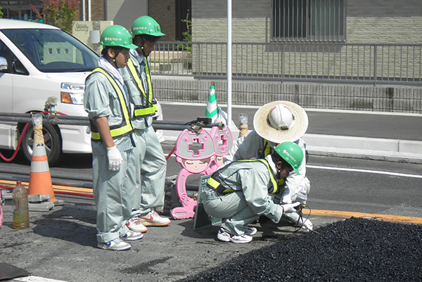
[[[344,41],[346,0],[272,0],[272,41]]]

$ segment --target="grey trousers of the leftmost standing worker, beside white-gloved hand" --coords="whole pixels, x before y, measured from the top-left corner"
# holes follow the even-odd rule
[[[96,203],[97,241],[107,243],[127,233],[134,199],[141,192],[136,189],[136,159],[133,149],[122,154],[122,167],[108,169],[107,155],[93,156],[93,187]]]

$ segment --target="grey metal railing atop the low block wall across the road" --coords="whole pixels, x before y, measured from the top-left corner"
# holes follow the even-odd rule
[[[226,43],[158,42],[154,74],[226,77]],[[422,44],[232,43],[234,79],[422,82]]]

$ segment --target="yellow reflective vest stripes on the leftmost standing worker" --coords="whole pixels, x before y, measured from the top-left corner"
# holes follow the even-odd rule
[[[122,89],[120,89],[113,77],[111,77],[110,74],[108,74],[108,72],[106,72],[101,67],[97,67],[96,69],[94,69],[91,74],[94,74],[94,72],[100,72],[101,74],[104,74],[107,77],[108,81],[110,81],[111,85],[113,86],[115,93],[117,93],[117,97],[120,101],[120,110],[123,113],[124,119],[119,126],[110,126],[111,137],[120,137],[132,133],[134,128],[132,127],[132,123],[130,123],[129,112],[127,111],[127,105],[126,101],[124,100]],[[89,76],[91,76],[91,74],[89,74]],[[96,128],[94,122],[91,122],[91,139],[94,141],[101,140],[101,135],[100,133],[98,133],[98,128]]]

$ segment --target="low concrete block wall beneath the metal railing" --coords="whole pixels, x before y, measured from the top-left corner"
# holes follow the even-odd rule
[[[167,102],[207,103],[210,86],[217,102],[226,103],[227,81],[153,76],[155,97]],[[296,102],[315,109],[422,114],[422,88],[322,83],[233,81],[233,105],[264,105],[274,100]]]

